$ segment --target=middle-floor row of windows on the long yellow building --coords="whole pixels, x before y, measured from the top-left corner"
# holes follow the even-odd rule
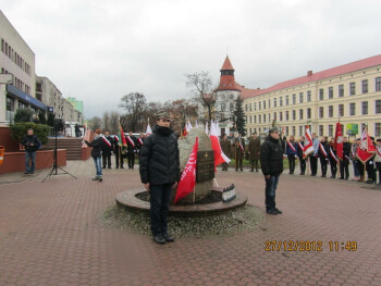
[[[361,114],[367,115],[368,114],[368,101],[362,101],[361,102]],[[284,111],[284,113],[281,111],[279,113],[274,112],[273,116],[271,119],[271,113],[268,114],[258,114],[258,115],[248,115],[246,119],[247,123],[266,123],[266,122],[271,122],[272,121],[295,121],[296,120],[296,110],[290,111]],[[381,114],[381,100],[376,100],[374,101],[374,113],[376,114]],[[279,114],[279,116],[278,116]],[[284,117],[283,117],[284,114]],[[298,110],[298,120],[304,120],[304,109]],[[356,115],[356,103],[349,103],[349,115]],[[333,117],[333,105],[328,107],[328,117]],[[344,116],[344,104],[339,104],[337,105],[337,116]],[[319,108],[319,119],[324,117],[324,107]],[[306,120],[311,119],[311,109],[308,108],[306,109]],[[257,121],[258,120],[258,121]]]

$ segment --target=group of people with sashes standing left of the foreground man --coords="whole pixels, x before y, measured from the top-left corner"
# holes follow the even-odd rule
[[[122,135],[124,136],[124,135]],[[128,169],[134,169],[135,157],[139,154],[139,151],[144,145],[145,135],[140,134],[138,138],[133,136],[130,132],[125,136],[126,147],[123,147],[118,135],[110,135],[110,132],[106,130],[105,134],[98,128],[95,130],[95,137],[91,142],[84,140],[84,142],[93,147],[91,157],[96,166],[96,176],[93,181],[102,182],[102,169],[112,167],[112,156],[115,156],[115,169],[124,169],[124,158],[127,158]]]

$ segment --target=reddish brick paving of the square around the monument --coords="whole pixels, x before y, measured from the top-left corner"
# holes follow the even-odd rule
[[[263,213],[258,229],[159,246],[98,222],[116,192],[140,186],[137,170],[106,170],[98,183],[91,160],[65,169],[78,178],[0,177],[0,285],[381,285],[381,191],[365,184],[284,174],[284,213]],[[217,179],[263,209],[260,173]],[[322,251],[265,251],[267,240],[321,240]],[[330,251],[329,241],[357,250]]]

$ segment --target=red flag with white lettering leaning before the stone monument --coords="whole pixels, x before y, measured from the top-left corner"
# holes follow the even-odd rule
[[[195,190],[197,150],[198,137],[196,137],[196,142],[193,147],[188,161],[186,162],[183,174],[181,175],[176,197],[174,198],[174,203],[176,203],[179,200],[181,200],[182,198],[186,197],[188,194]]]

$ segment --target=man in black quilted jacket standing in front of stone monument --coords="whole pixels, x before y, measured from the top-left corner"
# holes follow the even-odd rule
[[[167,216],[171,191],[180,179],[177,139],[170,128],[167,112],[159,112],[157,125],[140,150],[139,172],[145,188],[150,192],[150,219],[153,240],[158,244],[173,241],[168,234]]]

